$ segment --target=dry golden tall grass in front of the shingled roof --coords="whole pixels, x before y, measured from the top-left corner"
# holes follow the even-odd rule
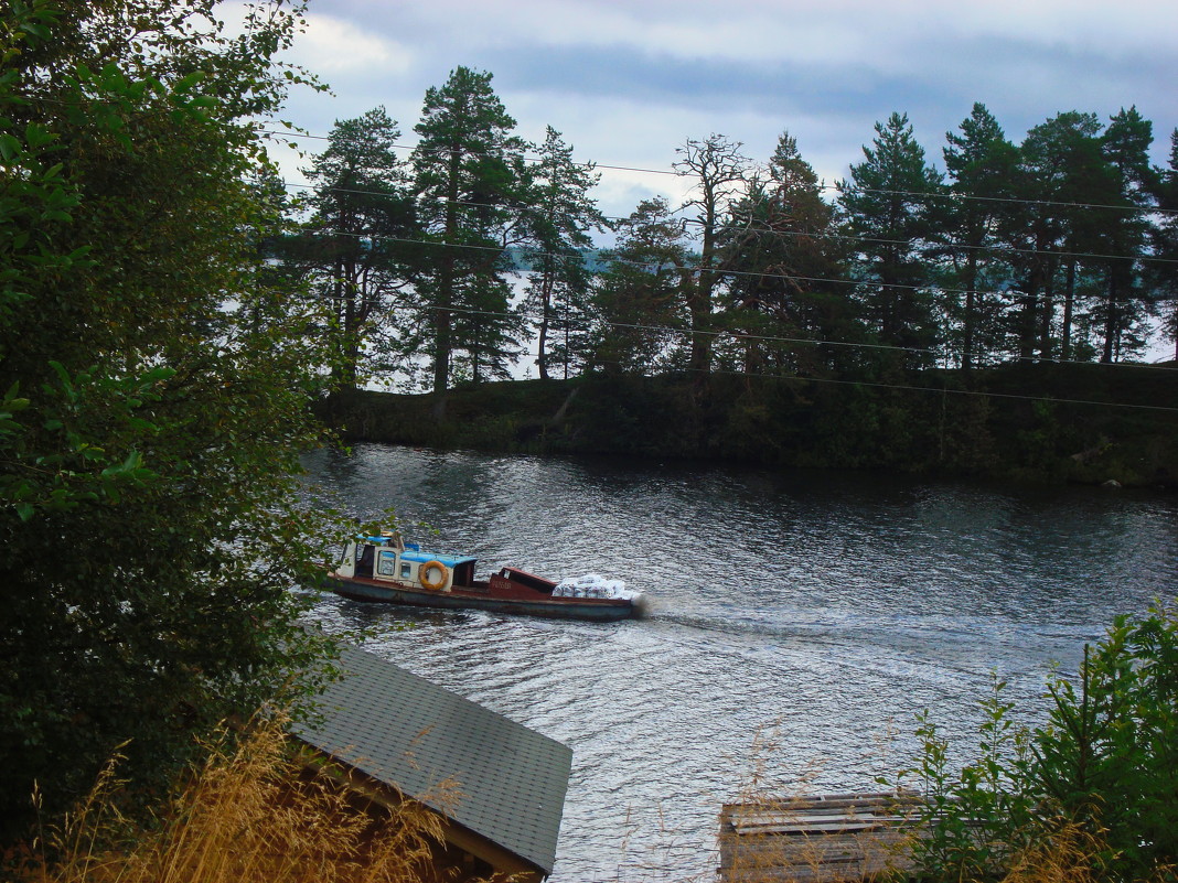
[[[442,819],[419,804],[357,811],[357,796],[292,751],[280,722],[223,739],[160,824],[117,808],[114,764],[34,848],[21,883],[418,883],[438,879]]]

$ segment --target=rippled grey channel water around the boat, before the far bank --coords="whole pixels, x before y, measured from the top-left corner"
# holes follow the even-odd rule
[[[914,716],[965,751],[991,672],[1027,722],[1053,664],[1178,591],[1178,499],[862,474],[385,445],[322,451],[355,514],[426,549],[649,593],[648,618],[547,622],[324,596],[329,630],[574,751],[556,883],[710,879],[716,814],[775,791],[872,790]],[[411,626],[411,628],[406,628]]]

